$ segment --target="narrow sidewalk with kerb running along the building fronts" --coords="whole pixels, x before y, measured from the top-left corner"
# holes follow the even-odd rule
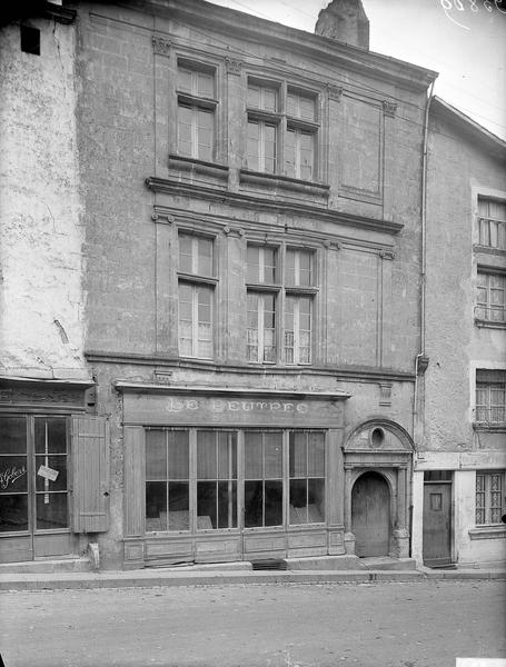
[[[506,579],[506,569],[252,570],[249,564],[149,568],[129,571],[0,574],[0,590],[148,588],[235,584],[343,584],[423,579]]]

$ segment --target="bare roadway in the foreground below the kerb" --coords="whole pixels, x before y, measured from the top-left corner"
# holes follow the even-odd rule
[[[504,580],[2,593],[6,667],[455,667],[506,657]]]

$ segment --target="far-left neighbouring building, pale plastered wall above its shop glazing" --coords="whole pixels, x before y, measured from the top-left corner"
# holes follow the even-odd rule
[[[0,563],[86,551],[92,509],[75,12],[39,9],[0,28]]]

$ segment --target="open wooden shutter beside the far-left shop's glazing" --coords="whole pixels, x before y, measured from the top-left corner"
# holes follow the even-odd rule
[[[72,417],[73,531],[103,532],[109,527],[109,421]]]

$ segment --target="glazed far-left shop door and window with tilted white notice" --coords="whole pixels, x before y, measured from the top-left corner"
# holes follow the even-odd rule
[[[65,417],[0,417],[0,563],[71,551]]]

